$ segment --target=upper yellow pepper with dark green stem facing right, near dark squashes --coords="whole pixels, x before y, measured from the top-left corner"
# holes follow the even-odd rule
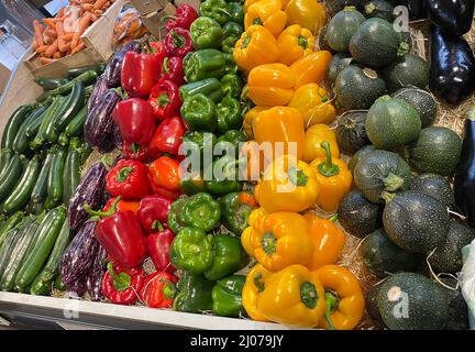
[[[300,57],[314,52],[316,38],[313,34],[298,24],[292,24],[284,30],[277,38],[279,62],[291,65]]]

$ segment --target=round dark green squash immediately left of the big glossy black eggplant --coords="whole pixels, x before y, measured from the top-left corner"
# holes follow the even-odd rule
[[[409,86],[424,89],[429,85],[430,65],[418,55],[406,54],[386,66],[382,74],[389,92]]]

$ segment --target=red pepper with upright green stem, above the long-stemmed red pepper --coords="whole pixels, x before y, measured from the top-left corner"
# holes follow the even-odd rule
[[[152,194],[148,168],[137,161],[120,160],[106,176],[106,189],[123,199],[141,199]]]

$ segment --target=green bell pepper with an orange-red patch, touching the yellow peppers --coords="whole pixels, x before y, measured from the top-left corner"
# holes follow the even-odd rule
[[[254,199],[254,196],[248,191],[228,194],[219,199],[222,223],[235,235],[241,235],[247,228],[248,217],[254,210],[255,205],[250,204],[248,199]]]

